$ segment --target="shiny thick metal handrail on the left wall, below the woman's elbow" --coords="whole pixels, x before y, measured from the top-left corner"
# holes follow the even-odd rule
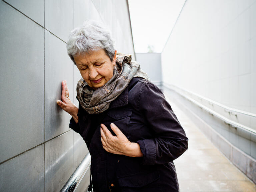
[[[88,153],[85,156],[85,158],[82,160],[82,162],[79,164],[79,166],[76,168],[74,173],[71,175],[71,177],[68,179],[68,181],[63,186],[63,188],[60,190],[60,192],[72,192],[72,191],[74,191],[74,189],[76,188],[80,179],[85,174],[85,172],[88,170],[90,165],[91,165],[91,156]]]

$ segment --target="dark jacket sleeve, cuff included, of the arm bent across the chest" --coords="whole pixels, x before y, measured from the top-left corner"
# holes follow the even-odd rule
[[[178,158],[188,148],[188,138],[170,104],[153,83],[144,83],[137,103],[154,138],[139,140],[142,165],[163,164]]]

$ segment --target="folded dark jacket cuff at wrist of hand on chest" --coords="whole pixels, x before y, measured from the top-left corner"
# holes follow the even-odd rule
[[[140,145],[143,154],[142,165],[154,165],[156,161],[156,145],[153,139],[143,139],[136,143]]]

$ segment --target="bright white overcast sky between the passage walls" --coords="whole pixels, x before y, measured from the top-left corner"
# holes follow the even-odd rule
[[[129,0],[135,53],[161,53],[185,0]]]

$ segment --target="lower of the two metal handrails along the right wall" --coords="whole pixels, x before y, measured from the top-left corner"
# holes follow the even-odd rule
[[[166,88],[169,88],[167,85],[163,84],[163,86],[165,86]],[[176,86],[175,86],[176,87]],[[169,88],[170,89],[170,88]],[[183,96],[184,98],[188,99],[189,101],[191,101],[192,103],[196,104],[197,106],[199,106],[200,108],[204,109],[205,111],[209,112],[210,114],[214,115],[215,117],[218,117],[219,119],[223,120],[224,123],[230,125],[231,127],[234,127],[234,128],[239,128],[239,129],[242,129],[242,130],[245,130],[247,132],[250,132],[251,134],[253,135],[256,135],[256,130],[250,128],[250,127],[247,127],[247,126],[244,126],[240,123],[237,123],[235,121],[232,121],[226,117],[224,117],[223,115],[220,115],[218,114],[217,112],[215,112],[214,110],[202,105],[201,103],[197,102],[196,100],[188,97],[187,95],[184,95],[183,93],[173,89],[174,91],[176,91],[178,94],[180,94],[181,96]]]

